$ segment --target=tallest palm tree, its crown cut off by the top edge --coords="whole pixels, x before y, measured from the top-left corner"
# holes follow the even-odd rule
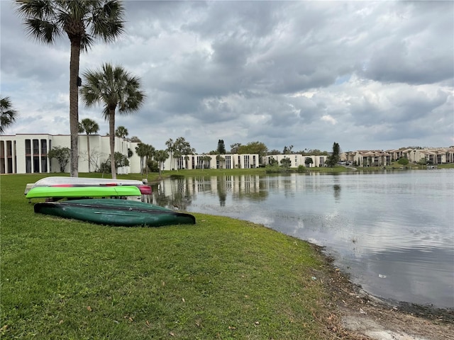
[[[53,44],[65,33],[70,39],[70,174],[77,177],[80,52],[92,47],[95,38],[111,42],[123,33],[123,5],[118,0],[16,0],[16,6],[28,34],[35,40]]]

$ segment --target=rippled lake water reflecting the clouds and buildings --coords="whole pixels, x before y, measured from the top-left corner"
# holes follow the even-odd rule
[[[153,201],[308,240],[368,293],[454,307],[454,170],[162,181]]]

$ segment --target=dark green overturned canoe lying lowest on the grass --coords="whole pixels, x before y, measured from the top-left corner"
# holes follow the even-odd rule
[[[176,212],[159,205],[109,198],[35,203],[34,210],[46,215],[123,227],[194,225],[196,222],[193,215]]]

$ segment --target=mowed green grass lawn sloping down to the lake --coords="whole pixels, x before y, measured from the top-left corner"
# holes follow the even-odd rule
[[[139,175],[138,175],[139,176]],[[38,215],[0,176],[1,339],[331,339],[309,244],[250,222],[109,227]]]

